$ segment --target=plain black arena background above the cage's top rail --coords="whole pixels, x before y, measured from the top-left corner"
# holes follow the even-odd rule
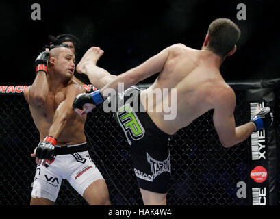
[[[42,20],[31,19],[39,3]],[[246,21],[238,21],[238,3]],[[1,1],[1,85],[29,85],[34,60],[47,36],[68,33],[80,38],[77,59],[90,46],[105,51],[99,66],[120,73],[175,43],[201,49],[209,23],[226,17],[241,29],[238,51],[221,67],[226,81],[279,77],[279,7],[276,1]],[[151,77],[144,82],[151,82]]]

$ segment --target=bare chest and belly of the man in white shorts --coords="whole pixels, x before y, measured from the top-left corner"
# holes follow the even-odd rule
[[[40,133],[40,141],[48,136],[49,128],[53,123],[55,110],[66,99],[66,89],[73,83],[68,83],[66,87],[58,88],[55,91],[49,90],[47,100],[40,107],[29,105],[34,123]],[[71,117],[66,121],[66,126],[58,138],[58,145],[81,144],[86,142],[84,135],[84,124],[86,116],[79,116],[73,111]]]

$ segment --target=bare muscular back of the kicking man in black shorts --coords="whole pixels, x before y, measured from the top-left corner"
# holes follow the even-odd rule
[[[178,44],[176,51],[168,57],[155,83],[141,92],[142,104],[155,125],[162,131],[172,135],[186,127],[193,120],[214,108],[220,92],[231,89],[222,79],[219,69],[210,62],[208,55],[209,51],[194,50]],[[162,91],[168,88],[168,95],[156,103],[156,101],[151,101],[151,96],[158,88]],[[173,108],[176,108],[176,116],[174,119],[166,120],[164,115],[170,112],[164,112],[163,103],[171,106],[171,99],[174,97],[171,95],[171,88],[175,88],[176,92],[177,100],[175,105],[173,104]],[[147,104],[144,104],[145,97]],[[157,112],[157,105],[162,105],[161,112]],[[153,112],[148,110],[152,108]]]

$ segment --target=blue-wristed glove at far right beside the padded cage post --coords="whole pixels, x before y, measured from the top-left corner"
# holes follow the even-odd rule
[[[251,123],[255,126],[255,131],[267,129],[272,125],[272,117],[270,115],[270,107],[264,107],[252,119]]]

